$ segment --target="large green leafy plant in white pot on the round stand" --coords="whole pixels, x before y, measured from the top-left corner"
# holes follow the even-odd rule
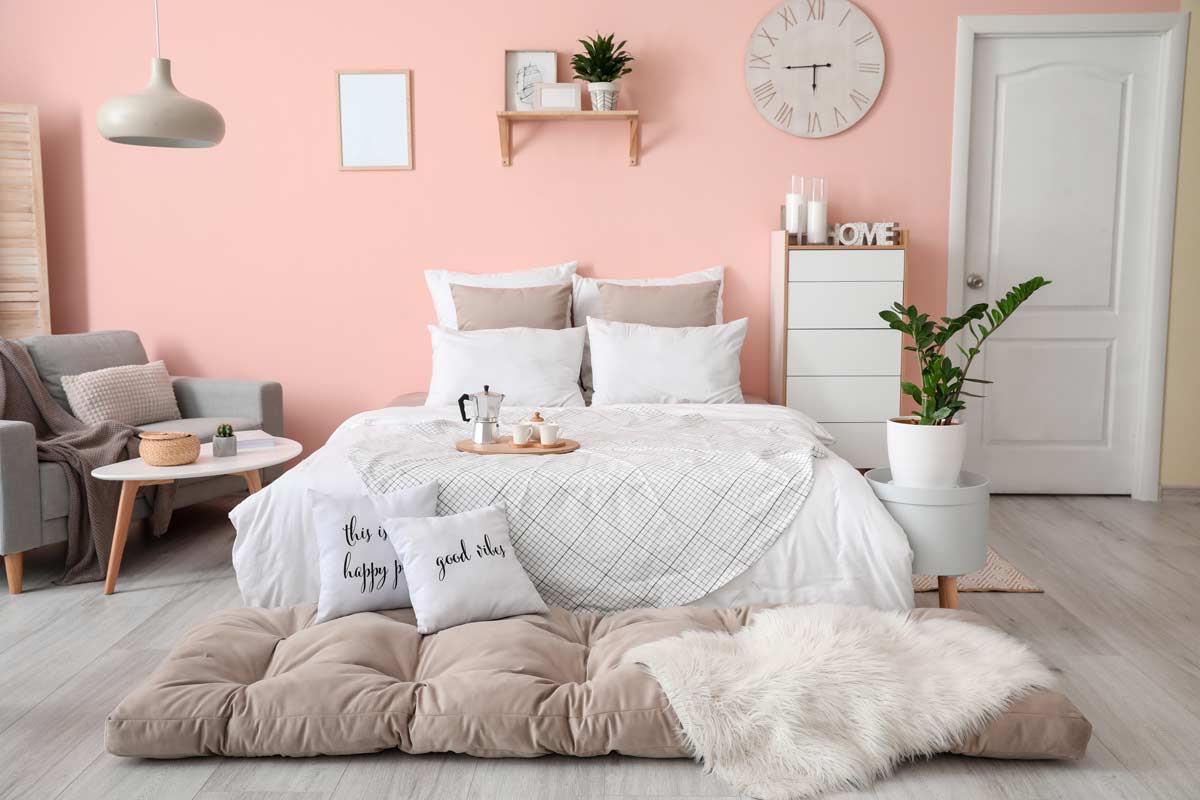
[[[1013,315],[1022,302],[1049,284],[1042,276],[1030,278],[1013,287],[1008,294],[995,301],[995,307],[980,302],[971,306],[959,317],[942,317],[934,321],[916,306],[894,303],[880,312],[880,317],[893,330],[912,338],[905,350],[917,354],[920,366],[920,386],[907,380],[900,381],[901,391],[917,402],[917,414],[888,420],[888,465],[892,481],[898,486],[919,488],[950,488],[958,482],[966,457],[966,425],[955,415],[966,408],[962,397],[983,397],[966,391],[966,385],[990,384],[990,380],[971,378],[971,363],[979,355],[983,343],[996,329]],[[970,333],[973,343],[954,347],[962,356],[962,366],[956,366],[946,347],[959,333]]]

